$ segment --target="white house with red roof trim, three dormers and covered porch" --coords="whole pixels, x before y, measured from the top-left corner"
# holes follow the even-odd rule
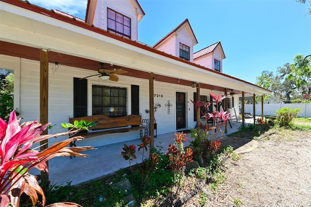
[[[14,108],[23,121],[51,122],[56,132],[69,118],[141,114],[154,137],[155,104],[161,105],[156,133],[165,134],[195,127],[191,100],[210,100],[210,92],[235,94],[225,109],[237,112],[239,96],[271,92],[223,73],[220,42],[193,52],[198,41],[188,19],[154,46],[139,42],[144,15],[138,0],[88,0],[85,21],[28,1],[1,0],[0,68],[14,71]],[[127,73],[112,81],[99,69]],[[79,145],[101,146],[138,134],[107,134]]]

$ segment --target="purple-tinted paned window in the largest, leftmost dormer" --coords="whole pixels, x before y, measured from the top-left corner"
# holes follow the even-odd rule
[[[131,38],[131,19],[107,9],[107,30],[116,35]]]

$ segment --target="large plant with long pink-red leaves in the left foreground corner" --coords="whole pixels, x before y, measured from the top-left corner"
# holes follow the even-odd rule
[[[63,127],[71,128],[68,132],[54,135],[41,135],[49,126],[40,124],[36,121],[24,122],[19,125],[14,111],[11,112],[8,123],[0,119],[0,206],[19,207],[19,197],[24,192],[30,196],[33,207],[37,203],[37,193],[41,194],[41,205],[45,206],[45,195],[36,177],[28,173],[32,168],[48,172],[46,161],[56,156],[82,156],[85,154],[78,152],[93,147],[66,147],[71,141],[80,140],[77,136],[64,141],[57,142],[43,151],[31,149],[34,144],[52,137],[69,135],[78,132],[80,129],[87,129],[92,126],[91,123],[83,124],[76,122],[73,124],[62,124]],[[84,125],[84,126],[82,126]],[[80,207],[73,203],[57,203],[49,207]]]

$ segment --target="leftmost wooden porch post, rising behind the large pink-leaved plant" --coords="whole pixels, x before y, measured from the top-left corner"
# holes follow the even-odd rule
[[[41,48],[40,50],[40,123],[48,123],[48,106],[49,106],[49,49]],[[43,135],[48,134],[46,129]],[[48,148],[48,140],[40,141],[40,151]],[[49,167],[48,161],[46,162]],[[43,186],[49,185],[49,174],[41,171],[41,183]]]

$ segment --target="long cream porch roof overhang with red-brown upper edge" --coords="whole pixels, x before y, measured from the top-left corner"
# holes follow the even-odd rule
[[[94,62],[90,62],[92,65],[105,62],[133,69],[130,72],[141,73],[142,76],[154,72],[156,80],[159,81],[163,77],[170,77],[171,81],[179,78],[187,85],[191,82],[200,82],[203,86],[214,86],[219,89],[226,87],[258,95],[271,92],[238,78],[156,51],[141,43],[109,34],[84,22],[62,17],[24,2],[17,4],[18,6],[0,1],[0,40],[36,49],[49,48],[54,52],[55,58],[53,60],[49,57],[51,62],[61,63],[56,59],[65,54],[68,61],[64,61],[64,65],[74,64],[75,62],[71,62],[75,61],[73,57],[79,57],[91,60]],[[25,8],[20,7],[21,5]],[[3,43],[1,53],[3,53],[2,45]],[[22,52],[19,51],[20,53]],[[82,64],[74,67],[85,68]],[[87,69],[97,70],[98,65],[88,66]],[[167,82],[171,83],[169,79]]]

